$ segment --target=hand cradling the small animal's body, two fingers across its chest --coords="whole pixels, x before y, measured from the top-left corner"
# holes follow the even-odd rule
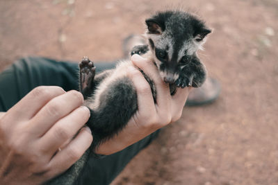
[[[98,154],[111,155],[145,138],[159,128],[177,121],[181,117],[183,106],[186,103],[190,87],[178,88],[176,94],[171,96],[169,85],[163,82],[152,61],[142,58],[140,55],[133,55],[131,61],[154,81],[156,103],[154,103],[147,80],[138,69],[131,67],[128,76],[136,87],[138,111],[117,136],[102,143],[97,148]]]

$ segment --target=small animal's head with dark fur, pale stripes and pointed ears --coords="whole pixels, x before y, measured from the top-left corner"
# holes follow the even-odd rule
[[[158,13],[146,20],[147,38],[161,78],[174,83],[211,33],[202,21],[185,12]],[[199,25],[195,25],[199,24]]]

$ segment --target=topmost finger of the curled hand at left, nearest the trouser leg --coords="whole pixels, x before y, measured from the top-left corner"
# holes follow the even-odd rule
[[[49,100],[56,96],[65,94],[65,90],[57,86],[40,86],[30,91],[22,100],[10,108],[8,115],[20,121],[32,118]],[[17,123],[17,122],[15,122]]]

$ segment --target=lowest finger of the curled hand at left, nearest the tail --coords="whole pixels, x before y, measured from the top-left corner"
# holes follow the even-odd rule
[[[90,128],[82,128],[79,134],[49,161],[51,170],[49,170],[50,174],[48,175],[53,177],[70,168],[90,147],[91,143],[92,134]]]

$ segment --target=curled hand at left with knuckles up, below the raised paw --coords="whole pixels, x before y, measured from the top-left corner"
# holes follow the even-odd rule
[[[37,87],[0,114],[0,184],[41,184],[70,168],[92,143],[82,103],[78,91]]]

